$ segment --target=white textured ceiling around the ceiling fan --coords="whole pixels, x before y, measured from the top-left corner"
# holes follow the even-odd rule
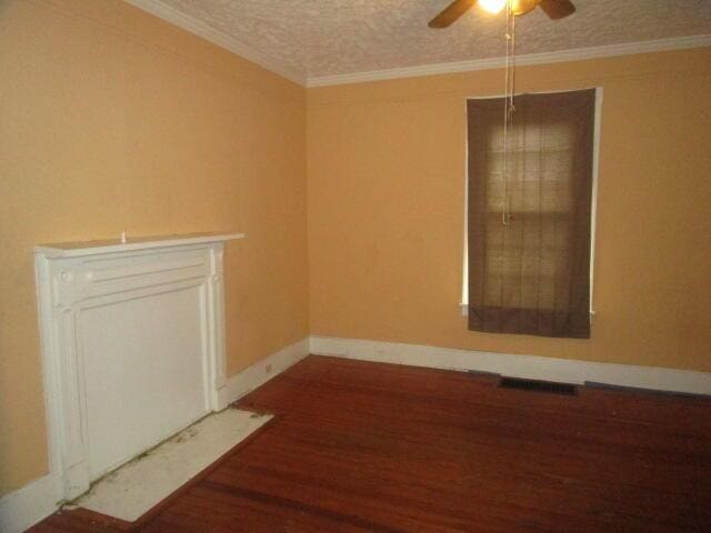
[[[504,53],[503,14],[474,8],[449,29],[429,29],[450,0],[158,1],[310,79]],[[574,3],[578,12],[559,21],[540,9],[517,19],[518,52],[711,33],[711,0]]]

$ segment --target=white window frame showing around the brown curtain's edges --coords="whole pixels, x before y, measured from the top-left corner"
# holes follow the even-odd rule
[[[514,97],[520,94],[557,94],[561,92],[570,92],[585,89],[595,90],[595,110],[593,119],[592,132],[592,191],[590,201],[590,318],[595,315],[593,303],[593,284],[594,284],[594,259],[595,259],[595,224],[598,219],[598,183],[600,171],[600,133],[602,125],[602,87],[582,87],[577,89],[565,89],[559,91],[538,91],[538,92],[517,92]],[[462,288],[459,306],[462,316],[469,316],[469,117],[467,114],[467,102],[469,100],[490,100],[493,98],[504,98],[503,94],[488,94],[483,97],[468,97],[464,99],[464,224],[463,224],[463,245],[462,245]]]

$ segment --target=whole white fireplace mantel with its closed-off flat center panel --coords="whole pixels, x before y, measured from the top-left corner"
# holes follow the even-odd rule
[[[34,248],[58,500],[227,406],[223,243],[243,237]]]

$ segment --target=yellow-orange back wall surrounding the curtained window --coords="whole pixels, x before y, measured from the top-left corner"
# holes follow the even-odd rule
[[[467,330],[464,100],[503,72],[308,93],[316,335],[711,371],[711,49],[520,68],[604,88],[591,340]]]

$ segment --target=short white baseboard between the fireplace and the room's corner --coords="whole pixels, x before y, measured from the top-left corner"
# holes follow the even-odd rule
[[[307,355],[309,355],[308,336],[228,378],[226,386],[228,403],[239,400]]]

